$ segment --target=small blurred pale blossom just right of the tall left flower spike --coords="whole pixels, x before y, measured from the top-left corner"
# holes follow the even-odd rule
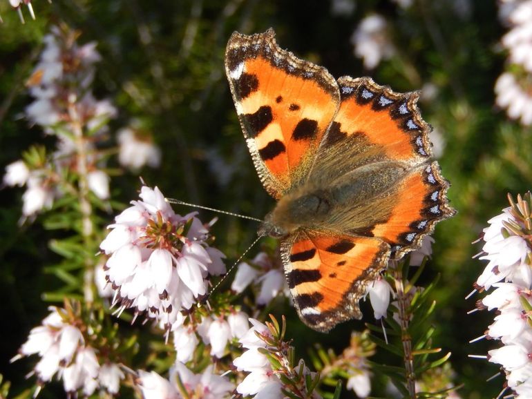
[[[144,165],[157,168],[161,163],[161,150],[153,142],[141,140],[131,128],[118,132],[120,150],[118,161],[122,166],[137,171]]]

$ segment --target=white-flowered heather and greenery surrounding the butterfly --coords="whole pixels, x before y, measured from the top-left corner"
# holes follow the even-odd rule
[[[0,3],[2,398],[532,395],[532,1],[295,4]],[[231,32],[269,26],[336,77],[421,89],[459,211],[328,334],[256,222],[181,202],[272,207],[223,76]]]

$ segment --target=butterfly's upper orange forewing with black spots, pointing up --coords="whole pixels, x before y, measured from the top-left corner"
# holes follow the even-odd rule
[[[225,70],[261,182],[278,199],[307,177],[339,106],[334,78],[279,48],[273,30],[229,39]]]

